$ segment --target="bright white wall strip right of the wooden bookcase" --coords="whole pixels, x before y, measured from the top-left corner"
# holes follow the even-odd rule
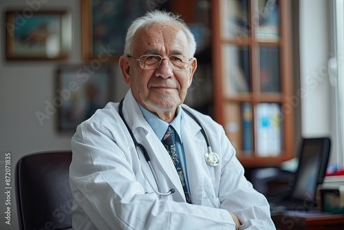
[[[336,162],[334,87],[327,60],[333,53],[330,1],[300,0],[301,132],[305,137],[330,136],[330,161]]]

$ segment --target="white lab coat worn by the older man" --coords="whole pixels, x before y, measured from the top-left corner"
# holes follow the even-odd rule
[[[184,106],[184,105],[183,105]],[[188,108],[190,109],[190,108]],[[193,111],[204,125],[219,165],[209,166],[200,126],[185,114],[182,141],[193,205],[185,202],[180,179],[161,141],[145,121],[131,91],[123,114],[134,136],[148,151],[162,192],[159,197],[145,180],[142,168],[156,187],[149,166],[133,145],[118,114],[118,103],[108,103],[78,126],[72,138],[69,178],[74,196],[74,229],[235,229],[228,211],[241,229],[275,229],[266,198],[244,178],[244,169],[224,129],[210,117]],[[139,151],[140,152],[140,151]]]

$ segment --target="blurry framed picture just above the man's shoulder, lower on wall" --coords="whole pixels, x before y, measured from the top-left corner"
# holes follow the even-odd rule
[[[75,132],[80,123],[111,100],[114,72],[110,65],[61,65],[57,68],[56,95],[51,104],[58,109],[59,131]]]

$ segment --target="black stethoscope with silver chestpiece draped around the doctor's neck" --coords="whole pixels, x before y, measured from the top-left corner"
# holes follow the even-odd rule
[[[138,148],[141,149],[142,151],[142,154],[144,156],[144,158],[146,159],[148,165],[149,165],[149,168],[151,169],[151,172],[153,174],[153,177],[154,177],[154,180],[156,182],[156,185],[158,186],[158,190],[155,189],[155,187],[153,186],[153,184],[151,183],[151,181],[148,179],[148,177],[146,176],[146,174],[144,173],[144,170],[142,168],[142,165],[141,165],[141,171],[142,171],[142,174],[144,176],[144,178],[146,178],[146,180],[148,181],[149,185],[151,186],[151,188],[155,191],[156,194],[160,195],[160,196],[169,196],[171,194],[173,194],[175,192],[175,189],[170,189],[168,192],[166,193],[162,193],[161,192],[161,186],[160,186],[160,182],[158,180],[158,176],[156,176],[155,174],[155,170],[153,168],[153,166],[151,165],[151,158],[149,158],[149,154],[146,150],[146,148],[138,143],[138,141],[136,140],[135,136],[133,136],[133,132],[131,132],[131,129],[129,128],[129,125],[127,124],[127,122],[125,121],[125,118],[123,116],[123,112],[122,112],[122,107],[123,107],[123,100],[122,99],[120,101],[120,105],[119,105],[119,114],[120,114],[120,118],[122,118],[122,121],[125,123],[125,126],[127,127],[128,131],[129,131],[129,134],[131,136],[131,138],[133,139],[133,143],[135,145],[135,148],[136,148],[136,152],[138,154]],[[206,146],[208,147],[208,151],[206,152],[206,154],[204,155],[204,158],[206,160],[206,163],[208,165],[211,165],[211,166],[217,166],[219,165],[219,155],[217,155],[215,152],[213,152],[211,150],[211,143],[209,141],[209,138],[208,138],[208,135],[206,134],[206,131],[203,127],[203,125],[200,123],[200,121],[198,121],[198,119],[187,109],[183,108],[184,112],[186,112],[186,114],[188,114],[189,116],[191,116],[191,118],[193,118],[193,120],[197,123],[197,125],[200,125],[201,127],[201,132],[202,132],[202,135],[204,136],[204,139],[206,140]],[[140,158],[139,154],[138,154],[138,158]]]

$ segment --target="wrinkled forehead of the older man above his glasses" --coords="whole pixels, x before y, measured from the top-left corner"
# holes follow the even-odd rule
[[[155,23],[139,28],[135,34],[134,52],[143,54],[187,55],[186,34],[177,25]]]

